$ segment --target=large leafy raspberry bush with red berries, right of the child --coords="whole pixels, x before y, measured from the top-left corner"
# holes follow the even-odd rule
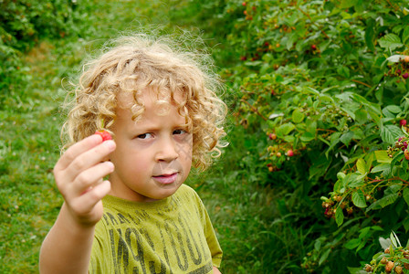
[[[236,123],[260,143],[259,184],[287,185],[294,226],[314,235],[300,271],[365,271],[379,237],[407,240],[408,4],[185,4],[222,45]]]

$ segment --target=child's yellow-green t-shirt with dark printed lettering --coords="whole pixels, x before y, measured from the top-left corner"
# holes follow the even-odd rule
[[[95,228],[89,273],[212,273],[222,249],[194,190],[137,203],[107,195]]]

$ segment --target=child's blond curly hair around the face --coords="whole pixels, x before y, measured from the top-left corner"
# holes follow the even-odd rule
[[[226,105],[216,95],[222,85],[208,54],[176,44],[172,37],[120,37],[105,47],[100,58],[84,65],[74,99],[66,105],[70,111],[62,130],[64,148],[102,128],[110,130],[122,92],[132,92],[132,119],[137,121],[144,111],[138,97],[151,88],[158,95],[170,92],[173,102],[174,93],[182,92],[178,110],[192,126],[194,166],[209,166],[226,145],[222,141]]]

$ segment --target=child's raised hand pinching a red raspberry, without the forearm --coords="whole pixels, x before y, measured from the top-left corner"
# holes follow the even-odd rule
[[[79,226],[93,226],[102,217],[101,199],[110,192],[103,177],[114,169],[113,163],[102,161],[114,150],[115,142],[94,134],[72,145],[54,167],[58,190]]]

